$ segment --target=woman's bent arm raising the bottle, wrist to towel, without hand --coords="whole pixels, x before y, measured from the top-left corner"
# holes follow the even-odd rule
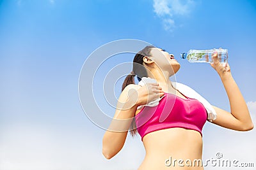
[[[212,123],[236,131],[249,131],[253,129],[253,122],[248,107],[231,73],[220,77],[229,99],[230,113],[213,106],[217,117]]]

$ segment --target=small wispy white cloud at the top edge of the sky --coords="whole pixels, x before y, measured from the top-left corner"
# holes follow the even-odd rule
[[[154,12],[162,19],[164,29],[173,31],[175,27],[175,16],[189,15],[195,7],[192,0],[154,0]]]

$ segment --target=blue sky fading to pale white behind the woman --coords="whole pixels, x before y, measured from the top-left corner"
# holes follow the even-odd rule
[[[189,49],[227,48],[232,75],[255,121],[255,18],[255,1],[245,0],[0,0],[0,169],[140,166],[143,144],[131,136],[113,159],[104,159],[104,130],[86,117],[77,92],[86,58],[118,39],[140,39],[173,53],[181,65],[176,80],[230,111],[216,71],[179,58]],[[109,59],[99,77],[133,57]],[[104,99],[99,103],[113,114]],[[203,133],[204,159],[220,151],[229,159],[255,160],[255,129],[236,132],[207,122]]]

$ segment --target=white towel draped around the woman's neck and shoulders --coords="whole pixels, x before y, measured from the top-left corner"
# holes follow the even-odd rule
[[[138,83],[138,85],[143,86],[145,85],[145,83],[156,83],[157,81],[153,78],[149,78],[149,77],[143,77],[141,79],[141,81]],[[209,122],[212,122],[212,120],[216,119],[216,111],[214,110],[214,108],[212,107],[212,105],[206,100],[204,99],[204,97],[202,97],[200,94],[198,94],[198,92],[196,92],[195,90],[191,89],[191,87],[188,87],[188,85],[184,85],[182,83],[178,83],[178,82],[172,82],[173,87],[175,87],[175,89],[179,90],[179,92],[181,92],[182,94],[184,94],[185,96],[192,98],[192,99],[197,99],[198,101],[200,101],[200,103],[202,103],[207,111],[207,120],[209,120]],[[164,96],[163,96],[164,97]],[[159,104],[159,101],[163,98],[159,98],[156,99],[156,101],[152,101],[148,104],[145,104],[143,106],[157,106],[157,104]],[[141,108],[142,106],[139,106],[138,108]]]

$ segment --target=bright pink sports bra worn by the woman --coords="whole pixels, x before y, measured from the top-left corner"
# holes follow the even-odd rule
[[[200,101],[164,92],[164,97],[154,107],[144,106],[135,116],[137,131],[143,137],[154,131],[182,127],[200,132],[207,120],[207,111]]]

